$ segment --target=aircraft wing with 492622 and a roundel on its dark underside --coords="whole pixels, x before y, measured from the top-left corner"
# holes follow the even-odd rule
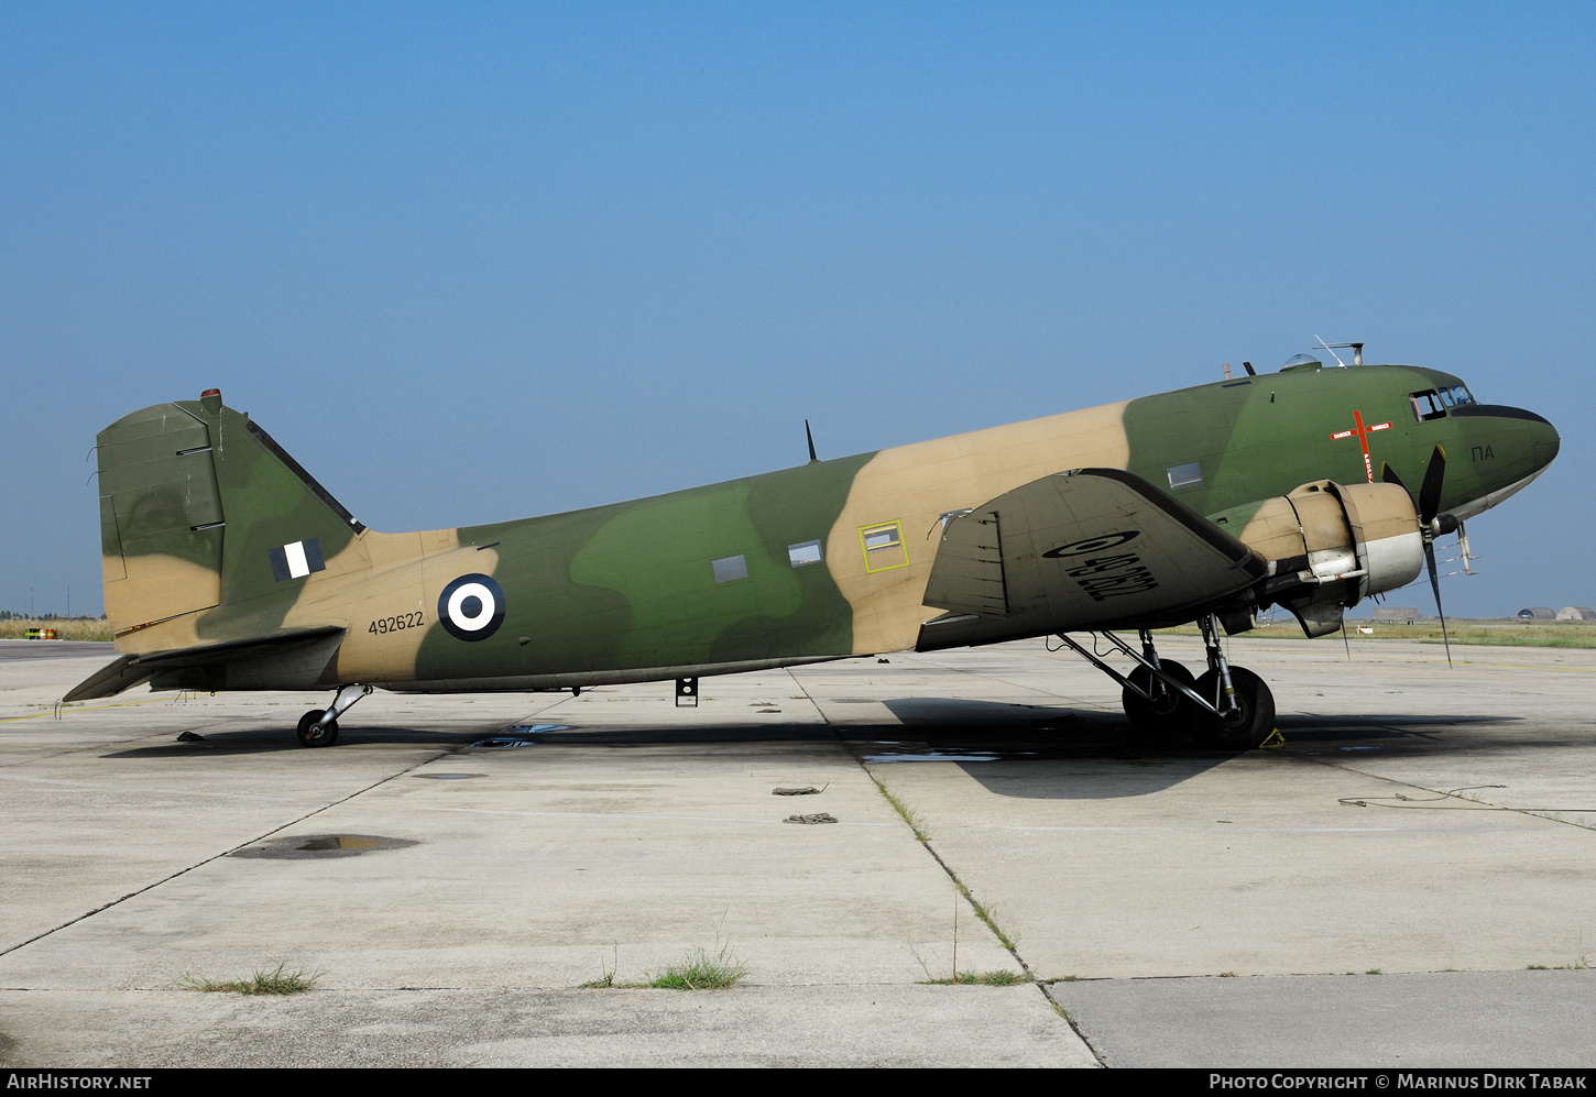
[[[1163,625],[1192,620],[1264,574],[1246,545],[1141,477],[1076,469],[951,518],[926,604],[953,611],[938,622],[966,620],[950,630],[961,633],[990,631],[969,615],[1025,619],[1028,635]]]

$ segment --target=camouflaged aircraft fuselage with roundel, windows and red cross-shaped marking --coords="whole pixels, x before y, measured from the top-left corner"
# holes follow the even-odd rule
[[[1240,536],[1264,499],[1307,482],[1361,483],[1389,462],[1417,485],[1440,445],[1441,505],[1468,518],[1539,475],[1558,434],[1529,411],[1473,403],[1462,386],[1414,367],[1288,370],[634,502],[409,534],[313,521],[300,504],[235,534],[228,493],[243,488],[228,485],[254,472],[219,442],[219,604],[144,622],[153,611],[132,609],[129,595],[112,619],[118,647],[134,654],[343,630],[298,687],[552,689],[902,651],[942,612],[922,598],[948,517],[1069,469],[1130,470]],[[177,407],[217,440],[227,416],[244,419],[219,399]],[[113,574],[131,566],[107,552],[109,607],[123,604]],[[195,566],[204,560],[182,563]]]

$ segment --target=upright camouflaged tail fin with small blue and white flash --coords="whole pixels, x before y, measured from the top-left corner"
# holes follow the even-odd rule
[[[123,416],[101,431],[97,451],[105,614],[118,641],[188,614],[259,606],[327,571],[365,529],[215,389]],[[345,553],[334,566],[359,563]],[[230,627],[228,612],[201,615],[196,638],[246,628]],[[265,617],[247,628],[273,631]]]

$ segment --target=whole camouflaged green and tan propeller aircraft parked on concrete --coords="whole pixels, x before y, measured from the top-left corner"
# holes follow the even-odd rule
[[[121,655],[64,700],[152,689],[579,690],[1060,636],[1146,729],[1216,748],[1275,703],[1223,633],[1309,636],[1435,571],[1436,537],[1540,475],[1551,424],[1430,368],[1325,367],[1050,415],[541,518],[377,533],[215,389],[99,434]],[[1326,349],[1329,349],[1326,346]],[[1377,475],[1379,474],[1379,475]],[[1417,493],[1406,485],[1419,485]],[[1462,542],[1467,553],[1467,542]],[[1465,556],[1467,558],[1467,556]],[[1197,622],[1207,671],[1152,630]],[[1136,630],[1140,644],[1119,631]],[[1069,633],[1130,660],[1120,674]],[[1093,647],[1098,647],[1095,644]]]

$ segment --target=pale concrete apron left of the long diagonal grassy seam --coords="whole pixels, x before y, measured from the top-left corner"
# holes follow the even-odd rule
[[[667,687],[378,694],[314,751],[292,724],[321,695],[56,721],[83,674],[0,660],[6,1064],[1095,1065],[1036,985],[922,985],[959,906],[959,968],[1021,969],[785,673],[696,713]],[[533,745],[471,746],[512,727]],[[327,836],[407,845],[292,848]],[[696,952],[742,984],[579,989]],[[184,982],[279,963],[316,990]]]

